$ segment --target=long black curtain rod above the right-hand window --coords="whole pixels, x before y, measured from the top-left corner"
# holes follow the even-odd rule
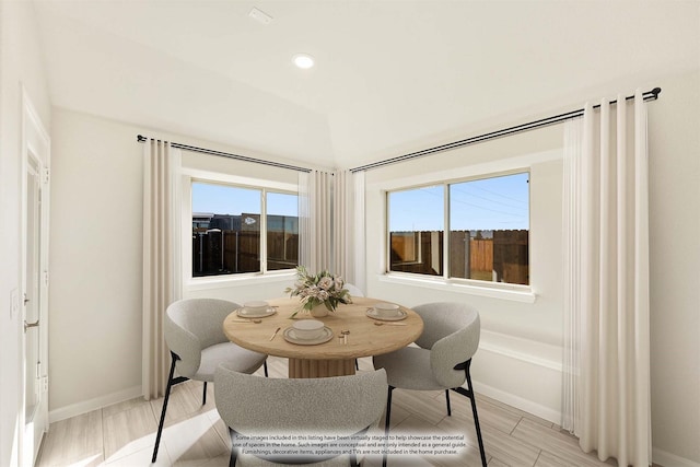
[[[653,90],[646,91],[645,93],[643,93],[642,97],[643,97],[644,101],[655,101],[656,98],[658,98],[658,94],[660,93],[661,93],[661,87],[654,87]],[[626,101],[629,101],[629,100],[632,100],[632,98],[634,98],[633,95],[625,97]],[[610,101],[610,104],[616,104],[616,103],[617,103],[617,101]],[[593,108],[599,108],[599,107],[600,107],[600,105],[594,105],[593,106]],[[436,147],[433,147],[433,148],[423,149],[423,150],[411,152],[411,153],[408,153],[408,154],[397,155],[396,157],[390,157],[390,159],[386,159],[384,161],[373,162],[371,164],[361,165],[359,167],[350,168],[350,172],[354,173],[354,172],[361,172],[361,171],[369,171],[370,168],[376,168],[376,167],[382,167],[384,165],[396,164],[398,162],[404,162],[404,161],[408,161],[408,160],[411,160],[411,159],[422,157],[424,155],[434,154],[436,152],[442,152],[442,151],[447,151],[450,149],[462,148],[462,147],[465,147],[465,145],[475,144],[475,143],[478,143],[478,142],[488,141],[488,140],[492,140],[492,139],[495,139],[495,138],[501,138],[501,137],[504,137],[504,136],[508,136],[508,135],[520,133],[521,131],[528,131],[528,130],[533,130],[535,128],[541,128],[541,127],[546,127],[546,126],[549,126],[549,125],[559,124],[559,122],[568,120],[570,118],[576,118],[576,117],[581,117],[581,116],[583,116],[583,108],[580,108],[578,110],[567,112],[565,114],[555,115],[552,117],[541,118],[541,119],[535,120],[535,121],[529,121],[527,124],[521,124],[521,125],[516,125],[514,127],[504,128],[504,129],[497,130],[497,131],[491,131],[491,132],[479,135],[479,136],[476,136],[476,137],[470,137],[470,138],[463,139],[463,140],[459,140],[459,141],[454,141],[454,142],[436,145]]]

